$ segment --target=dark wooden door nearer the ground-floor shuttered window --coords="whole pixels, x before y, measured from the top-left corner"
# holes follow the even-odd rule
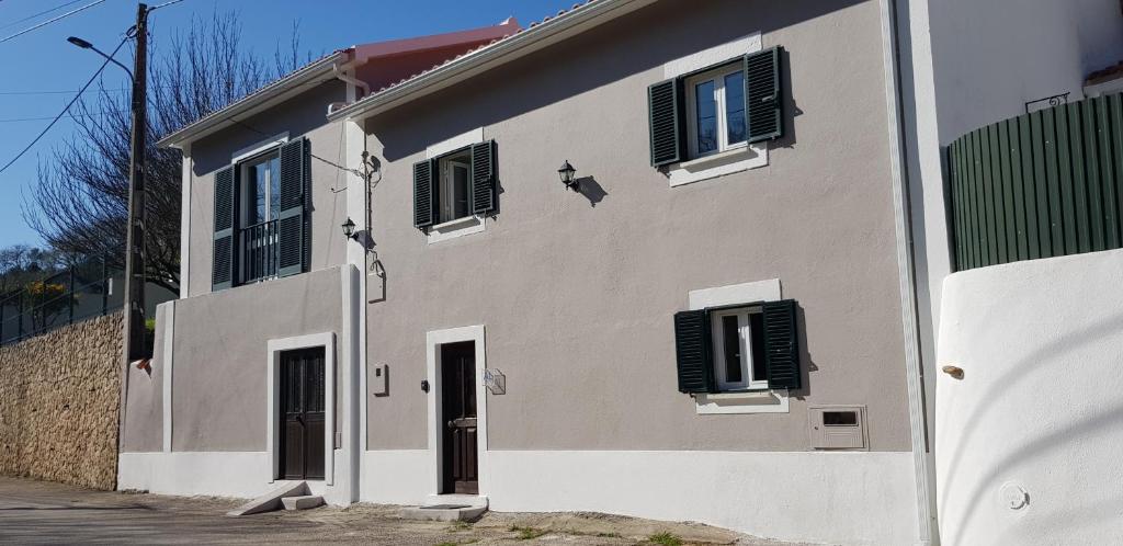
[[[444,427],[442,493],[480,492],[476,462],[476,347],[473,342],[440,346]]]

